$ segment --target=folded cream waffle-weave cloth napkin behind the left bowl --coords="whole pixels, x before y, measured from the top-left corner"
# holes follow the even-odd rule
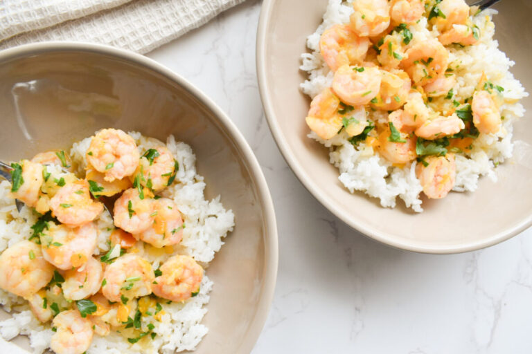
[[[245,0],[0,0],[0,48],[85,41],[147,53]]]

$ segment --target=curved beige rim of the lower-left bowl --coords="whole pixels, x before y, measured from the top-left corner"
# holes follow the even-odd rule
[[[5,62],[9,59],[17,57],[27,57],[40,53],[52,52],[88,52],[100,55],[109,55],[118,57],[134,64],[148,68],[151,71],[159,73],[168,78],[172,82],[185,88],[188,93],[193,95],[199,102],[202,102],[207,109],[213,112],[218,122],[222,125],[227,135],[233,140],[236,148],[242,153],[242,156],[247,163],[249,174],[256,184],[260,206],[264,211],[264,230],[265,230],[265,257],[264,257],[264,285],[260,291],[258,306],[256,308],[250,326],[245,333],[245,337],[240,344],[240,352],[249,353],[254,348],[260,333],[263,330],[266,319],[269,315],[269,308],[272,305],[274,298],[274,290],[276,286],[277,270],[278,270],[278,233],[276,225],[276,216],[272,196],[269,192],[265,176],[258,163],[258,160],[245,140],[244,136],[236,124],[234,124],[229,116],[220,109],[218,104],[215,104],[211,98],[207,97],[205,93],[188,82],[184,77],[170,70],[166,66],[159,64],[154,59],[145,57],[144,55],[134,53],[130,50],[115,48],[105,44],[93,44],[75,41],[45,41],[33,44],[24,44],[13,48],[0,50],[0,62]]]

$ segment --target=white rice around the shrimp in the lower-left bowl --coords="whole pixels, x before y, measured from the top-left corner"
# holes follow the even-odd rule
[[[136,140],[141,153],[163,145],[159,140],[141,136],[141,133],[129,134]],[[87,138],[77,142],[70,151],[73,162],[78,164],[78,174],[81,176],[86,166],[85,152],[90,141],[91,138]],[[162,195],[175,201],[186,225],[183,239],[179,245],[174,246],[173,254],[188,254],[206,268],[213,260],[215,252],[218,252],[224,244],[222,239],[233,230],[234,215],[231,210],[224,209],[220,203],[220,196],[211,201],[205,199],[204,178],[197,174],[192,149],[183,142],[176,142],[173,136],[168,137],[166,147],[179,162],[179,171],[175,183],[167,187]],[[59,168],[48,167],[48,171],[52,173],[52,178],[62,174]],[[37,221],[37,216],[27,207],[17,212],[15,201],[8,197],[10,187],[10,183],[5,180],[0,183],[0,252],[18,241],[28,239],[33,233],[30,227]],[[114,227],[112,217],[103,213],[96,223],[99,236],[94,253],[105,253],[109,250],[107,240]],[[137,254],[148,259],[154,269],[159,268],[163,261],[173,255],[139,244]],[[204,276],[199,294],[184,304],[174,302],[163,304],[165,313],[161,315],[159,321],[143,316],[143,330],[152,323],[155,326],[152,332],[157,333],[154,339],[150,339],[150,346],[143,346],[142,341],[130,344],[125,337],[112,330],[106,337],[100,337],[95,333],[87,354],[193,351],[209,330],[201,322],[207,312],[206,305],[209,303],[212,287],[213,282]],[[0,322],[0,335],[3,339],[10,340],[17,335],[27,335],[34,353],[42,353],[49,347],[53,334],[51,323],[39,322],[24,299],[0,289],[0,304],[4,310],[12,313],[10,319]]]

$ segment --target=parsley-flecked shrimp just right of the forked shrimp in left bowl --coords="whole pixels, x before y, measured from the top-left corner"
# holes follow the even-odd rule
[[[76,227],[93,221],[103,212],[103,204],[91,198],[87,180],[76,180],[57,191],[50,209],[61,223]]]

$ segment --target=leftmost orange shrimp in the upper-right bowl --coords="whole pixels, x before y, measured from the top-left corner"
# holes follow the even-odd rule
[[[340,100],[326,88],[310,102],[310,110],[305,118],[310,130],[322,139],[330,139],[342,129],[342,115],[338,113]]]

